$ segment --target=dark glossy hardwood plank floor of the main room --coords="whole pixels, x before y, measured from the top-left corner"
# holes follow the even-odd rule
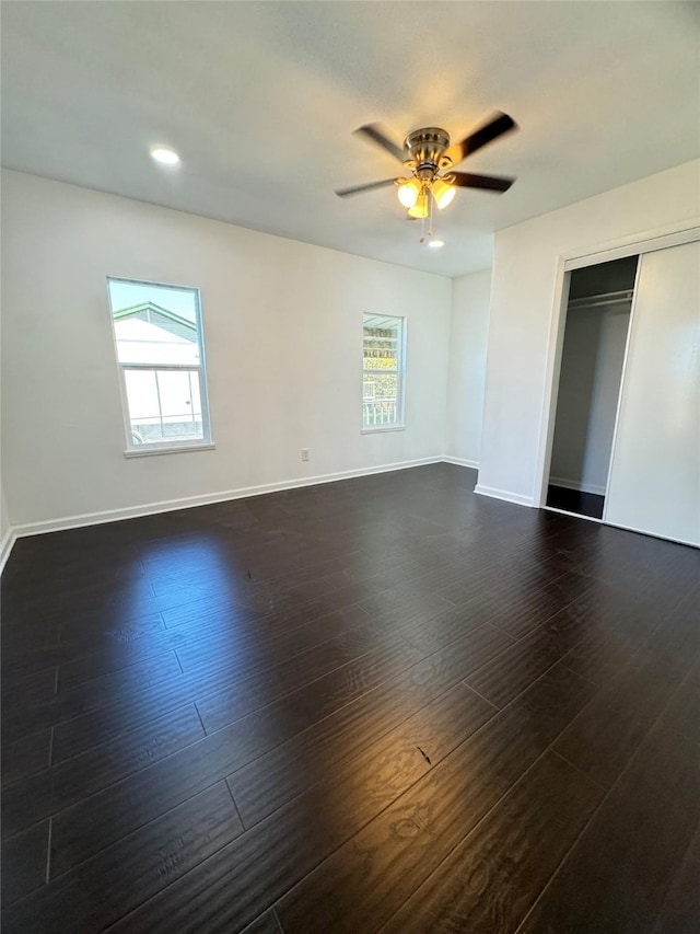
[[[700,930],[700,553],[436,464],[21,539],[5,934]]]

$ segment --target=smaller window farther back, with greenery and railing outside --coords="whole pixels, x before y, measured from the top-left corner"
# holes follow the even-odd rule
[[[402,428],[406,319],[365,314],[362,333],[362,429]]]

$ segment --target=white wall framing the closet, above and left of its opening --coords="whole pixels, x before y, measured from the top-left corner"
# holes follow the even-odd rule
[[[692,220],[699,207],[693,161],[497,233],[479,492],[538,505],[560,255]]]

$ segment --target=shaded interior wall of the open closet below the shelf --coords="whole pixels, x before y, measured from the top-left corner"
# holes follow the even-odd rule
[[[569,309],[551,483],[605,495],[630,307]]]

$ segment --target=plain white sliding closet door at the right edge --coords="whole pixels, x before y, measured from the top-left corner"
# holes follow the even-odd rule
[[[604,520],[700,544],[700,243],[640,263]]]

